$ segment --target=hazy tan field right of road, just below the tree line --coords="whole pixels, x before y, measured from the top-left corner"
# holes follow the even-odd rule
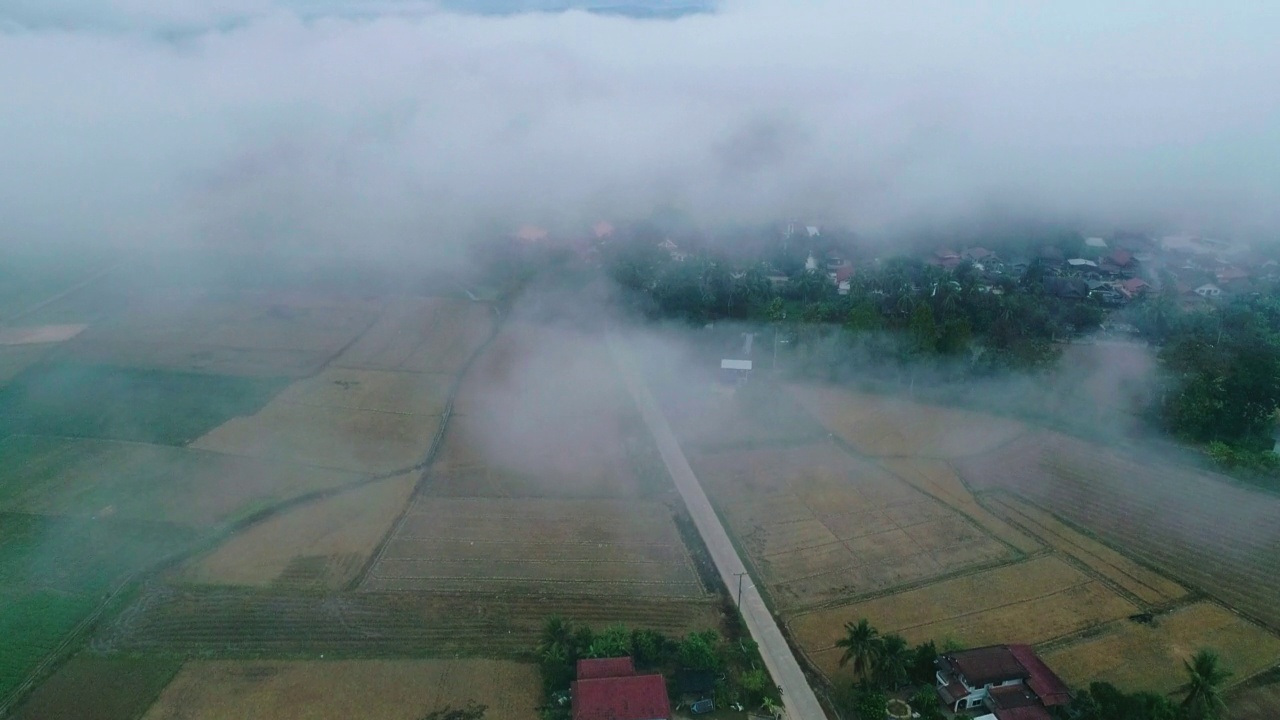
[[[877,457],[964,457],[993,450],[1027,432],[1015,420],[924,405],[837,386],[787,388],[831,432]]]

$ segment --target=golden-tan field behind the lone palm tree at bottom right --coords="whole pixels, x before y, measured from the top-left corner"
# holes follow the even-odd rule
[[[1149,625],[1121,620],[1106,634],[1044,656],[1073,685],[1106,680],[1125,691],[1169,693],[1185,682],[1183,661],[1211,648],[1240,682],[1280,662],[1280,638],[1212,602],[1197,602]]]

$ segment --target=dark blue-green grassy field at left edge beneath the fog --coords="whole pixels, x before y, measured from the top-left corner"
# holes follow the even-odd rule
[[[288,383],[106,365],[38,365],[0,391],[0,436],[184,445],[260,410]]]

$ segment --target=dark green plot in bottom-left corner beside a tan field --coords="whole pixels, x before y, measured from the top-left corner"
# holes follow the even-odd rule
[[[122,720],[140,717],[178,674],[179,662],[78,655],[41,683],[13,715],[17,720]]]

